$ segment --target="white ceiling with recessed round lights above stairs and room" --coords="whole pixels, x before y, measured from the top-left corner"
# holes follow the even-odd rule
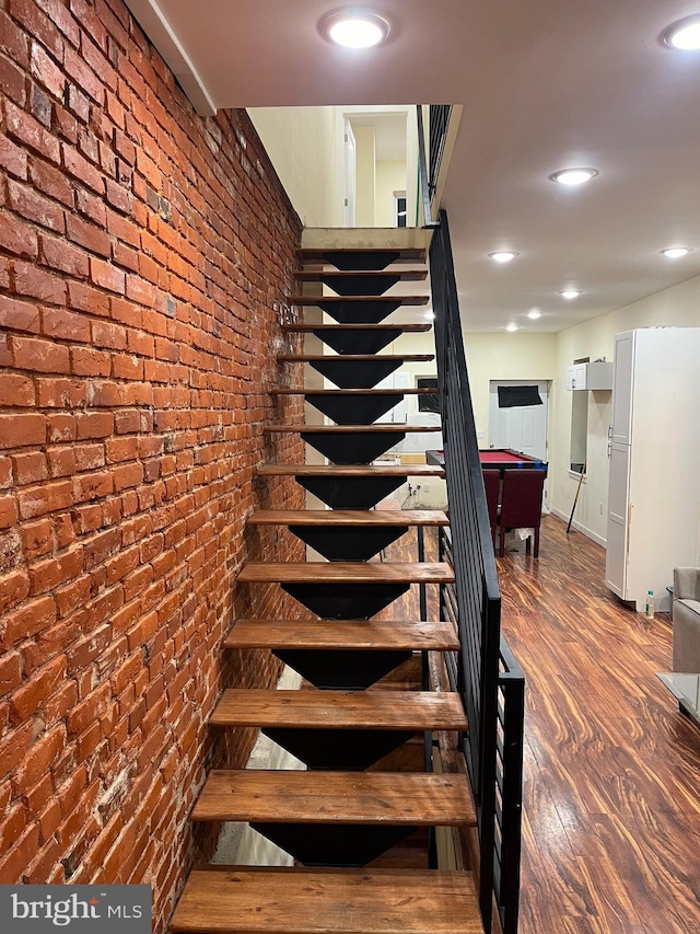
[[[363,51],[319,35],[334,0],[127,2],[201,113],[462,104],[443,205],[468,330],[560,331],[700,275],[700,53],[658,38],[700,0],[366,0],[393,33]],[[599,175],[549,180],[572,165]]]

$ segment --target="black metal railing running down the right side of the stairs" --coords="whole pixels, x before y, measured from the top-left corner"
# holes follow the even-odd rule
[[[460,643],[447,667],[469,725],[463,749],[477,806],[481,916],[490,932],[495,898],[503,930],[513,934],[520,884],[524,681],[500,633],[501,593],[444,210],[430,247],[430,279],[450,509],[450,530],[440,535],[440,552],[455,570],[455,584],[441,588],[441,618],[454,621]]]

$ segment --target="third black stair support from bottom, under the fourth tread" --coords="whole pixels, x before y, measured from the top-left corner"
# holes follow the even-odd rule
[[[272,654],[315,688],[364,691],[412,657],[406,650],[273,648]]]

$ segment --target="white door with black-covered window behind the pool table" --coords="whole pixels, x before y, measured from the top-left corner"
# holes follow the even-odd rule
[[[542,405],[499,408],[500,385],[536,385]],[[512,448],[540,461],[547,457],[549,382],[547,380],[491,380],[489,393],[489,446]]]

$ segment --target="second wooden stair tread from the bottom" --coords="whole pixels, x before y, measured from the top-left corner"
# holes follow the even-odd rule
[[[215,770],[192,820],[474,827],[466,775]]]

